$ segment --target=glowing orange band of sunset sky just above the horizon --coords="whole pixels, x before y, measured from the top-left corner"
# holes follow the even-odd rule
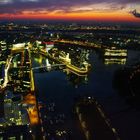
[[[0,18],[10,19],[42,19],[42,20],[95,20],[95,21],[128,21],[140,22],[140,18],[135,18],[127,12],[84,12],[84,13],[34,13],[33,11],[24,11],[22,14],[10,15],[1,14]]]

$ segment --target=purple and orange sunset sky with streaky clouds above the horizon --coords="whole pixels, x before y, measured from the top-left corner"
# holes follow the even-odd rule
[[[140,22],[140,0],[0,0],[0,19]]]

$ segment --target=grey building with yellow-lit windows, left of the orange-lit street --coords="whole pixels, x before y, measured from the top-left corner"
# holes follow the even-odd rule
[[[22,96],[17,98],[11,91],[5,91],[4,118],[9,125],[26,125],[29,122],[27,111],[22,108],[22,104],[20,103],[21,99]]]

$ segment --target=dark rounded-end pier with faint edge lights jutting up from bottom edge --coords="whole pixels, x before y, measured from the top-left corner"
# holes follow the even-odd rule
[[[101,105],[93,97],[78,99],[75,113],[87,140],[120,140]]]

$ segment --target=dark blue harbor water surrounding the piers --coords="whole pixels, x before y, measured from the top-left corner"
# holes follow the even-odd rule
[[[91,49],[88,53],[91,70],[87,75],[78,76],[63,67],[34,71],[38,100],[47,108],[46,112],[42,113],[43,117],[61,121],[54,129],[64,129],[72,134],[73,139],[79,135],[79,140],[82,140],[80,126],[76,124],[73,115],[73,105],[77,97],[92,96],[101,104],[122,140],[140,138],[140,110],[128,103],[126,98],[113,88],[116,70],[139,61],[140,52],[128,50],[128,57],[123,64],[105,64],[100,52]],[[39,54],[33,54],[32,60],[33,67],[49,62]]]

